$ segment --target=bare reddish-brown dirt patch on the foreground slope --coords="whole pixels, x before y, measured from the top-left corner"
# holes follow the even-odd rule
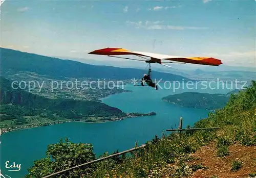
[[[249,173],[256,173],[256,146],[229,146],[230,154],[225,158],[216,156],[216,146],[213,144],[202,147],[193,154],[198,160],[189,162],[189,164],[202,164],[208,169],[200,169],[194,172],[190,178],[206,177],[249,177]],[[233,161],[241,161],[242,167],[238,171],[231,170]]]

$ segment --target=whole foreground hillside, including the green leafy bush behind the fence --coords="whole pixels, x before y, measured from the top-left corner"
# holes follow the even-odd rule
[[[255,81],[246,90],[231,94],[226,106],[196,122],[194,128],[217,126],[221,128],[187,131],[181,138],[176,133],[155,138],[138,151],[137,159],[134,154],[118,156],[67,171],[61,177],[254,177]],[[34,162],[26,177],[46,176],[95,159],[91,144],[75,144],[66,139],[49,145],[47,157]]]

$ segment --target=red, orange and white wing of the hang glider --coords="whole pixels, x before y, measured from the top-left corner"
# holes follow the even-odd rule
[[[169,56],[169,55],[161,55],[155,53],[146,53],[146,52],[135,52],[123,48],[103,48],[97,49],[89,54],[93,55],[105,55],[105,56],[117,56],[117,55],[136,55],[136,56],[144,56],[150,57],[151,60],[162,63],[161,60],[169,60],[176,61],[182,63],[191,63],[191,64],[201,64],[201,65],[212,65],[219,66],[222,64],[221,60],[211,58],[211,57],[178,57],[178,56]]]

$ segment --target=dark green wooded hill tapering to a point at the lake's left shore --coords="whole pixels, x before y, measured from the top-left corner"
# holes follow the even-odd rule
[[[17,119],[16,122],[25,123],[25,116],[36,115],[50,120],[126,115],[117,108],[97,101],[49,99],[21,89],[13,89],[11,81],[3,77],[0,77],[0,104],[2,122]]]

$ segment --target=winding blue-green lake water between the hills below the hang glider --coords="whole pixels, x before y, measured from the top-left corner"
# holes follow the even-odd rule
[[[163,85],[163,84],[161,84]],[[216,85],[216,84],[215,84]],[[211,85],[211,87],[214,84]],[[124,112],[156,112],[155,116],[144,116],[129,118],[116,122],[107,123],[62,123],[40,128],[32,128],[3,134],[0,146],[0,168],[3,174],[12,178],[23,177],[27,169],[33,165],[33,161],[45,157],[47,145],[56,143],[60,138],[69,138],[72,142],[92,143],[97,156],[104,151],[109,153],[115,150],[125,150],[134,147],[135,141],[138,145],[151,140],[156,134],[161,136],[162,132],[175,128],[179,124],[179,118],[183,117],[183,125],[193,125],[201,118],[208,115],[208,111],[194,108],[182,108],[161,100],[163,96],[195,91],[201,93],[223,93],[233,90],[229,89],[159,89],[151,87],[135,87],[126,85],[125,92],[103,98],[102,101]],[[165,132],[166,133],[166,132]],[[20,171],[8,171],[5,162],[21,164]]]

